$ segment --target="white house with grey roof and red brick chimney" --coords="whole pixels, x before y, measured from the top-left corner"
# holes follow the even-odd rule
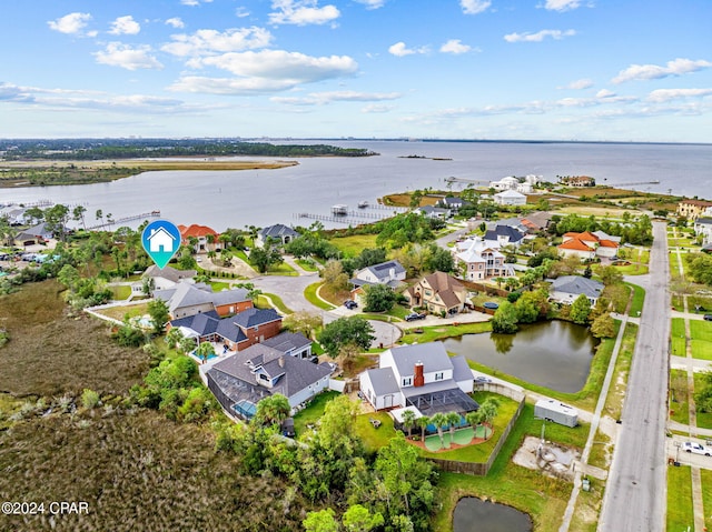
[[[360,391],[376,410],[413,406],[423,415],[478,409],[464,357],[449,357],[442,342],[402,345],[380,353],[378,368],[359,375]]]

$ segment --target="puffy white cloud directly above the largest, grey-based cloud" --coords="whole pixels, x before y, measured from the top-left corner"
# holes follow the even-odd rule
[[[161,50],[174,56],[202,56],[214,52],[238,52],[265,48],[271,42],[271,33],[264,28],[231,28],[224,32],[198,30],[192,34],[170,36],[172,42],[164,44]]]

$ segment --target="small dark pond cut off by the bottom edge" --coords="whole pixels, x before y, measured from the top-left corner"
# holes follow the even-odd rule
[[[532,519],[523,512],[465,496],[457,502],[453,515],[453,532],[531,532]]]

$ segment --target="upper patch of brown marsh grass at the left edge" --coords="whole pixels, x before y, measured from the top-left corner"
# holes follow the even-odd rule
[[[23,284],[0,298],[11,341],[0,357],[0,390],[14,395],[126,393],[148,370],[138,349],[118,347],[106,322],[65,312],[55,281]]]

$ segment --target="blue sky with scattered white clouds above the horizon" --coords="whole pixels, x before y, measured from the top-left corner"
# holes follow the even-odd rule
[[[712,142],[710,0],[3,2],[0,137]]]

